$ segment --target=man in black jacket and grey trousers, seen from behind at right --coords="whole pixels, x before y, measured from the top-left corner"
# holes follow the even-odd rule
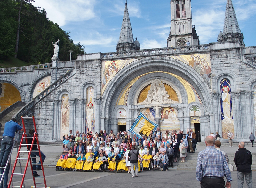
[[[235,153],[234,162],[237,166],[238,188],[243,188],[244,177],[248,188],[252,188],[252,154],[244,148],[244,142],[239,142],[239,149]]]

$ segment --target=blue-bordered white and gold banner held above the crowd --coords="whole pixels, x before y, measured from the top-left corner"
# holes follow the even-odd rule
[[[151,130],[153,131],[153,133],[156,131],[157,126],[157,124],[150,121],[142,113],[140,113],[138,118],[132,124],[132,127],[129,129],[129,131],[132,134],[137,134],[138,138],[142,138],[142,135],[148,137]]]

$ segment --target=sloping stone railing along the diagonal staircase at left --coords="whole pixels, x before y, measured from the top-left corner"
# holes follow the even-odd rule
[[[23,108],[20,109],[19,112],[17,112],[13,118],[16,118],[17,120],[21,118],[21,116],[26,115],[37,103],[42,101],[44,98],[46,98],[52,91],[56,90],[58,87],[60,87],[63,83],[65,83],[69,78],[74,76],[76,74],[72,71],[75,69],[72,68],[67,73],[65,73],[63,76],[61,76],[58,80],[56,80],[54,83],[52,83],[48,88],[46,88],[44,91],[42,91],[39,95],[37,95],[34,100],[30,101],[27,105],[25,105]]]

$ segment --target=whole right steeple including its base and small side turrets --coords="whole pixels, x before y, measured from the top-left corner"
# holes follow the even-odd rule
[[[244,44],[244,35],[239,28],[232,0],[227,0],[223,33],[219,33],[217,41],[239,41]]]

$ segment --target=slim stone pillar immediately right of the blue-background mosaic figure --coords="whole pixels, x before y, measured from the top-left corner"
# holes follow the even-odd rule
[[[233,112],[236,112],[235,113],[236,124],[234,121],[234,134],[235,134],[235,137],[241,138],[241,137],[243,137],[242,136],[243,128],[242,128],[242,124],[241,124],[240,91],[234,92],[234,96],[235,96],[235,109],[234,109],[234,106],[232,105]]]

